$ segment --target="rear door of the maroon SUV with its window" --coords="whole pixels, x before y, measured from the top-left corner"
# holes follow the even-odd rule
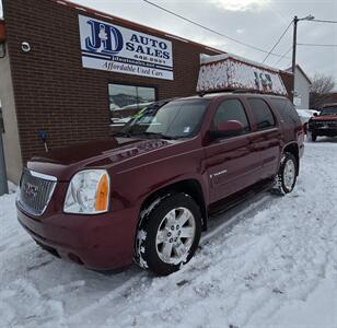
[[[254,121],[249,134],[251,149],[258,160],[256,181],[269,178],[278,171],[281,152],[281,129],[269,104],[264,97],[247,97],[246,102]]]

